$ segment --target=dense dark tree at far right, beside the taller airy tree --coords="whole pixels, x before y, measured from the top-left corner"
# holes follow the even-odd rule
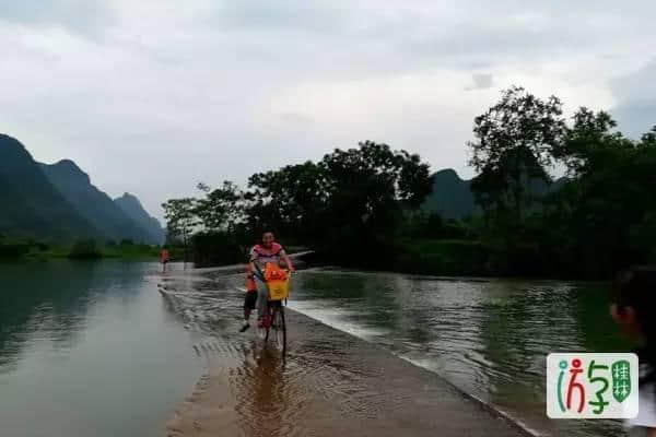
[[[654,260],[654,132],[634,142],[616,126],[608,114],[581,108],[557,150],[570,177],[546,202],[539,221],[548,229],[542,252],[563,261],[557,271],[604,277]]]

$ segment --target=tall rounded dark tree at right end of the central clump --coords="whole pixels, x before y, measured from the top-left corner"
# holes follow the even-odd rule
[[[399,221],[431,192],[429,165],[418,155],[366,141],[359,149],[336,150],[319,166],[327,191],[324,246],[361,265],[378,262],[373,258],[394,262]]]

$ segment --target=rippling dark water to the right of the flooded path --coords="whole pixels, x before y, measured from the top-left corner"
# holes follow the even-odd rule
[[[546,355],[626,351],[605,284],[307,272],[292,307],[389,349],[552,435],[616,436],[611,421],[549,421]]]

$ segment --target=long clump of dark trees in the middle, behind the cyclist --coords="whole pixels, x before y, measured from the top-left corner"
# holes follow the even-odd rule
[[[196,233],[197,261],[212,258],[207,250],[241,247],[243,253],[262,231],[273,229],[285,243],[320,248],[343,264],[374,267],[389,260],[386,267],[393,268],[390,237],[406,212],[423,202],[431,178],[418,155],[364,142],[336,150],[318,163],[253,175],[244,191],[231,182],[214,190],[202,184],[199,188],[204,198],[173,199],[163,205],[169,237],[184,244]]]

